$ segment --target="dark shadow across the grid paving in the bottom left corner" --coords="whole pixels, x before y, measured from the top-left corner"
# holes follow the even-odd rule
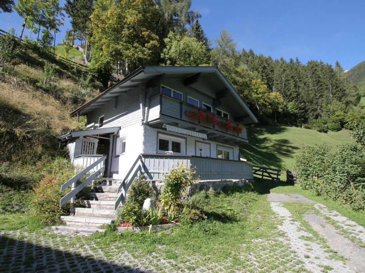
[[[82,246],[66,251],[0,235],[1,272],[115,272],[127,269],[128,272],[144,272],[123,266],[123,262],[112,264],[108,261],[110,258],[98,259],[90,252],[82,254],[82,251],[85,251]]]

